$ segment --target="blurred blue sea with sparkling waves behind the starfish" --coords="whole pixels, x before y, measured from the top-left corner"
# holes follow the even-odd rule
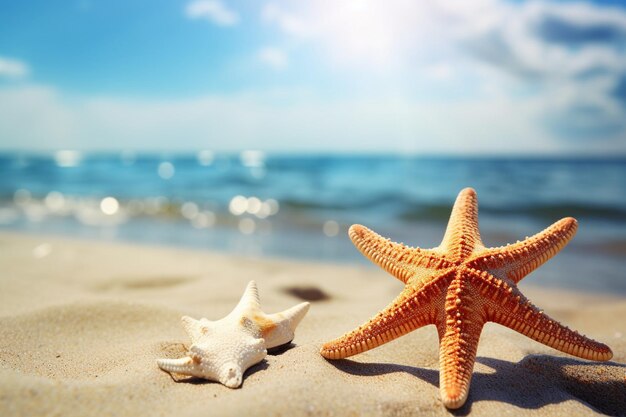
[[[534,285],[626,294],[624,159],[4,153],[0,230],[366,264],[351,224],[436,246],[464,187],[488,246],[578,219]]]

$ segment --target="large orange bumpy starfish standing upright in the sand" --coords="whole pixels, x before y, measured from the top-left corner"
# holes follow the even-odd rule
[[[354,225],[349,235],[370,260],[405,283],[404,290],[371,320],[326,343],[321,354],[341,359],[365,352],[428,324],[439,334],[439,388],[443,404],[461,407],[469,392],[483,325],[495,322],[547,346],[584,359],[613,353],[551,319],[517,288],[576,233],[564,218],[522,242],[486,248],[478,232],[476,193],[459,193],[441,245],[410,248]]]

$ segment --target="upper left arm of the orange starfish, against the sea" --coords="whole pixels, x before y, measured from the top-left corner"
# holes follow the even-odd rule
[[[363,255],[404,283],[420,267],[432,268],[445,262],[433,251],[392,242],[360,224],[352,225],[348,234]]]

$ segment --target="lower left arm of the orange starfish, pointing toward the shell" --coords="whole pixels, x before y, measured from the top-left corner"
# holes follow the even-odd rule
[[[320,350],[327,359],[343,359],[397,339],[415,329],[435,324],[432,304],[443,294],[441,282],[449,272],[441,274],[417,291],[405,288],[400,295],[371,320],[332,340]]]

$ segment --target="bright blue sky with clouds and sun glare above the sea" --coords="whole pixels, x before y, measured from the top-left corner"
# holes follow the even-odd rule
[[[0,3],[0,149],[626,154],[620,2]]]

